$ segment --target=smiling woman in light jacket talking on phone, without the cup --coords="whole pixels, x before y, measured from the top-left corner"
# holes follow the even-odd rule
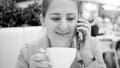
[[[98,65],[97,67],[105,68],[102,53],[97,47],[98,43],[90,36],[89,23],[77,23],[77,20],[77,1],[43,0],[41,22],[46,29],[46,35],[38,42],[27,44],[22,48],[16,68],[51,68],[45,48],[76,45],[74,41],[76,26],[80,26],[77,27],[77,31],[82,30],[85,36],[85,41],[81,43],[83,46],[79,48],[78,53],[85,67],[92,68],[92,66]],[[77,61],[79,60],[74,61],[71,68],[81,68]]]

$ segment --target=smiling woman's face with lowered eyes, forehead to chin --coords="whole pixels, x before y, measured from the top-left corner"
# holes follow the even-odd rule
[[[43,23],[50,40],[69,43],[74,37],[77,20],[78,10],[75,1],[52,0]]]

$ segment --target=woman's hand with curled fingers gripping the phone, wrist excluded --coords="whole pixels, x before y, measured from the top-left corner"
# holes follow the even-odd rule
[[[85,46],[90,43],[91,25],[89,24],[89,22],[85,20],[79,20],[79,22],[80,23],[77,23],[77,32],[82,33],[82,39],[83,39],[83,41],[80,42],[80,45],[82,44],[83,46]]]

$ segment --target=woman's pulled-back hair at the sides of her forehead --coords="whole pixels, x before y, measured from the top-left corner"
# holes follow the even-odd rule
[[[76,1],[76,3],[77,3],[77,0],[72,0],[72,1]],[[42,16],[43,17],[46,16],[46,12],[47,12],[51,2],[52,2],[52,0],[43,0],[42,1]],[[78,6],[78,3],[77,3],[77,6]]]

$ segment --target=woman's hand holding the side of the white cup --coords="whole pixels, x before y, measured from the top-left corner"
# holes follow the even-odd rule
[[[51,68],[46,51],[39,49],[39,52],[31,57],[30,68]]]

